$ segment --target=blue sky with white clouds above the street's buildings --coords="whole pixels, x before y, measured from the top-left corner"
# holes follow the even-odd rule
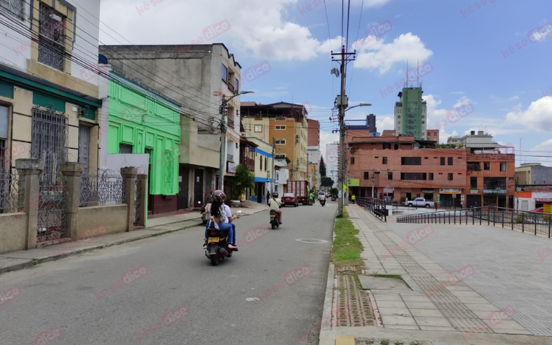
[[[348,50],[357,55],[348,65],[347,95],[350,106],[373,106],[355,108],[346,119],[373,113],[378,131],[393,129],[406,61],[409,68],[429,62],[431,72],[420,82],[430,126],[467,102],[474,109],[440,129],[442,142],[486,130],[515,146],[517,164],[552,166],[552,157],[531,157],[552,156],[552,38],[527,39],[552,21],[546,8],[547,0],[351,0]],[[244,69],[265,60],[272,68],[242,101],[311,103],[309,117],[321,121],[321,150],[338,140],[329,117],[339,93],[331,50],[345,44],[340,0],[325,6],[322,0],[101,0],[101,21],[109,28],[101,26],[100,41],[186,44],[225,19],[230,29],[213,42],[224,43]],[[387,32],[365,39],[366,30],[384,22]]]

